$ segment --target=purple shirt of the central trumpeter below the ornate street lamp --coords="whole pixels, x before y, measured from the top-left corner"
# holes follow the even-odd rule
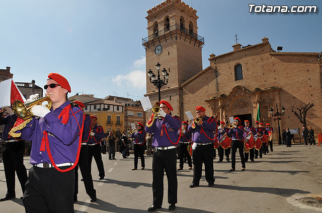
[[[172,117],[166,115],[165,118],[157,119],[155,118],[151,127],[145,126],[145,131],[147,133],[153,133],[153,147],[166,147],[166,146],[177,146],[178,141],[178,130],[181,128],[181,121],[177,117]],[[167,133],[169,138],[167,136]],[[170,141],[171,140],[171,141]]]

